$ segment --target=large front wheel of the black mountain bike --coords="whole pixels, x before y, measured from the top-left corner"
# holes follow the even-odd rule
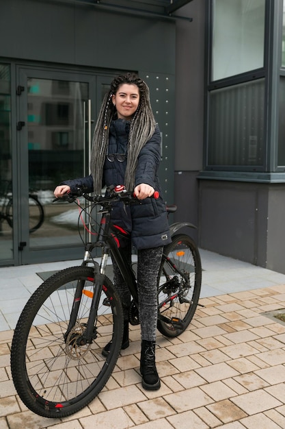
[[[77,323],[65,340],[78,281],[84,286]],[[122,345],[123,313],[109,278],[105,277],[102,287],[94,341],[82,346],[75,343],[85,328],[93,290],[92,267],[64,269],[39,286],[18,319],[11,348],[12,379],[33,413],[51,418],[76,413],[98,395],[111,376]],[[103,302],[106,298],[108,306]],[[110,340],[110,353],[104,358],[101,352]]]

